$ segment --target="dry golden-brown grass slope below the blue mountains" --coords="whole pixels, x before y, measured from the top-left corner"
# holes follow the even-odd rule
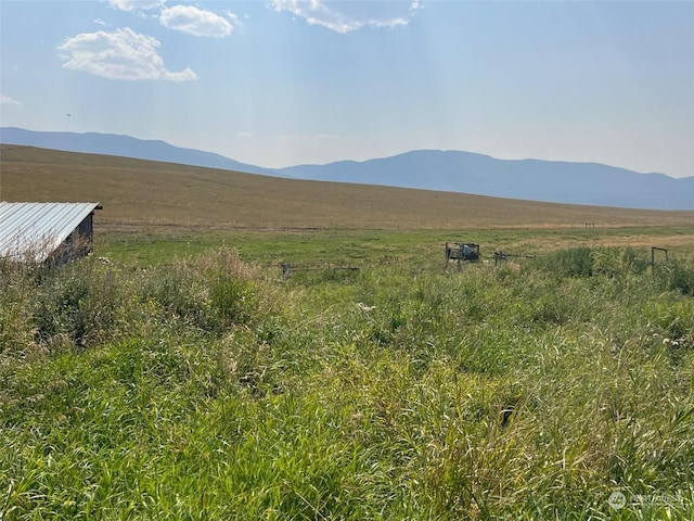
[[[694,212],[535,203],[301,181],[116,156],[0,145],[4,201],[101,202],[102,226],[461,229],[690,226]]]

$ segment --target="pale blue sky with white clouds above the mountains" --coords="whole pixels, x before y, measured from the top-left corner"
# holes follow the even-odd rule
[[[694,176],[694,1],[0,0],[0,125]]]

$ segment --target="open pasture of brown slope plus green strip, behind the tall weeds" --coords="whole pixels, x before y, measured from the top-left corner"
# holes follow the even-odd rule
[[[100,255],[170,264],[210,249],[245,260],[402,259],[438,265],[446,241],[542,254],[607,246],[686,254],[694,212],[562,205],[464,193],[309,182],[2,144],[7,201],[98,201]]]

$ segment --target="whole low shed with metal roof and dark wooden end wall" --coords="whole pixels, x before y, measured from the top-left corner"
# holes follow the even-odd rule
[[[0,202],[0,260],[62,264],[93,251],[99,203]]]

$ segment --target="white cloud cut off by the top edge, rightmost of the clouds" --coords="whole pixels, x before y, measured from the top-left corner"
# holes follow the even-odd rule
[[[363,28],[393,28],[408,25],[421,9],[412,1],[334,1],[272,0],[275,11],[287,11],[306,20],[309,25],[321,25],[340,34]]]

